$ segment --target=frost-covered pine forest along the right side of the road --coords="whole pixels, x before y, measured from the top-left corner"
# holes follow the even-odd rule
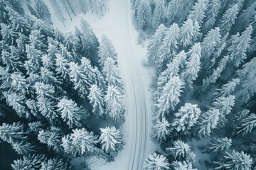
[[[151,137],[170,168],[253,169],[255,1],[131,4],[138,30],[149,37],[147,64],[155,70]],[[197,154],[194,162],[187,150]]]

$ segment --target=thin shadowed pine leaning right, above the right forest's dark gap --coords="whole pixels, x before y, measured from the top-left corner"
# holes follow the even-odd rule
[[[225,69],[225,66],[229,60],[229,56],[225,55],[220,62],[218,62],[218,67],[216,69],[213,69],[213,74],[210,75],[210,77],[207,77],[206,79],[203,79],[203,89],[206,90],[210,84],[215,83],[219,78],[220,74],[223,72],[223,69]]]

